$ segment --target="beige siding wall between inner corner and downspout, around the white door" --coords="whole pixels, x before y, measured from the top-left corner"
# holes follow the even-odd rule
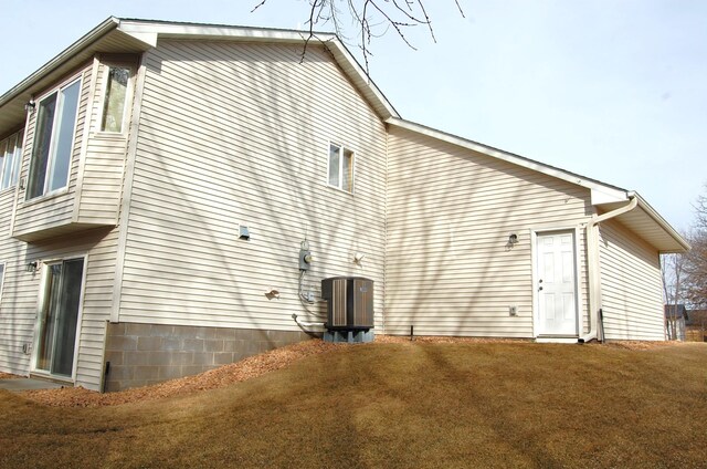
[[[589,190],[395,126],[388,152],[386,332],[532,337],[531,232],[587,221]]]

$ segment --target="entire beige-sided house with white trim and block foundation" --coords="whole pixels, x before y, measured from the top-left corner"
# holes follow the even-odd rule
[[[688,244],[637,192],[405,121],[303,45],[109,18],[0,96],[1,371],[199,373],[307,338],[336,275],[378,334],[664,340]]]

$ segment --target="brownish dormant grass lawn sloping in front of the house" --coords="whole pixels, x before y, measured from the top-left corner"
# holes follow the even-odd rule
[[[0,392],[0,467],[705,467],[707,344],[374,343],[186,396]]]

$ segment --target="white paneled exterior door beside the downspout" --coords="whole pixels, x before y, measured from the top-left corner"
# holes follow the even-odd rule
[[[538,335],[577,335],[574,232],[537,237]]]

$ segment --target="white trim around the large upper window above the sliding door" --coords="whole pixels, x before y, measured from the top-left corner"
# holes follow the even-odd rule
[[[57,115],[54,115],[53,122],[52,122],[52,136],[50,138],[50,155],[48,157],[48,161],[46,161],[46,169],[45,169],[45,175],[44,175],[44,187],[43,187],[43,191],[42,194],[34,196],[34,197],[30,197],[30,177],[32,175],[32,167],[34,165],[34,150],[35,150],[35,146],[38,143],[38,138],[39,135],[36,133],[36,124],[38,124],[38,119],[39,119],[39,115],[40,115],[40,105],[42,103],[42,101],[46,100],[48,97],[50,97],[53,94],[57,95],[57,107],[59,107],[59,93],[62,90],[65,90],[72,85],[74,85],[75,83],[78,83],[78,98],[76,102],[76,116],[74,117],[74,128],[72,132],[72,137],[71,137],[71,142],[72,142],[72,147],[71,147],[71,154],[68,155],[68,167],[67,167],[67,174],[66,174],[66,184],[63,187],[56,188],[54,190],[49,190],[50,187],[50,180],[51,180],[51,175],[53,173],[50,173],[50,167],[52,165],[54,165],[54,160],[56,157],[56,153],[54,152],[55,147],[56,147],[56,134],[55,134],[55,124],[57,123]],[[36,98],[36,108],[33,112],[32,115],[32,119],[33,119],[33,128],[32,128],[32,133],[33,133],[33,138],[32,138],[32,146],[30,148],[30,164],[28,165],[28,173],[27,173],[27,184],[24,186],[24,201],[30,202],[30,201],[34,201],[34,200],[40,200],[40,199],[44,199],[48,197],[52,197],[52,196],[56,196],[60,194],[64,194],[66,191],[68,191],[68,186],[71,184],[71,169],[72,169],[72,161],[73,161],[73,154],[76,149],[76,128],[78,127],[78,116],[81,115],[81,101],[82,101],[82,93],[84,91],[84,76],[83,73],[77,73],[72,75],[71,77],[62,81],[59,85],[52,87],[50,91],[48,91],[46,93],[43,93],[42,95],[40,95]],[[62,106],[62,111],[63,111],[63,102],[61,103]],[[56,113],[55,111],[55,114]]]

